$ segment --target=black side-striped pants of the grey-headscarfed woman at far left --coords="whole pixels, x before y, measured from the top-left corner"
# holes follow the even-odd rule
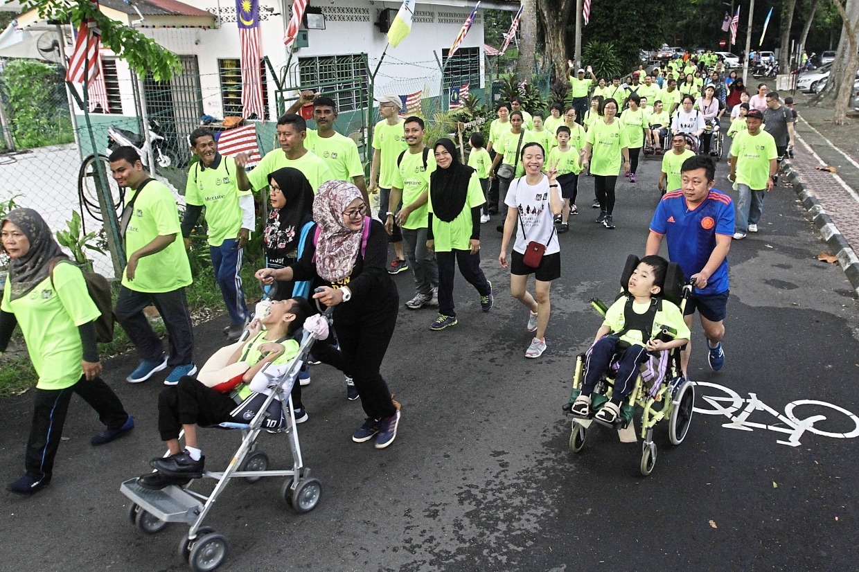
[[[128,420],[116,393],[99,377],[88,381],[81,376],[75,385],[65,389],[37,388],[25,460],[27,474],[36,481],[51,480],[72,393],[80,395],[99,414],[99,421],[107,425],[107,429],[119,429]]]

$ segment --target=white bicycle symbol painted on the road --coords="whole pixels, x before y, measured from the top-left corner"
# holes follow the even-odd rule
[[[701,388],[702,393],[704,392],[705,387],[709,387],[712,390],[724,393],[724,395],[702,394],[701,399],[704,399],[704,401],[706,401],[712,409],[702,409],[700,407],[695,407],[692,411],[695,411],[696,413],[701,413],[702,415],[722,415],[724,417],[728,417],[728,419],[731,420],[731,423],[722,424],[722,427],[728,429],[738,429],[740,431],[769,429],[771,431],[776,431],[778,433],[784,433],[786,435],[789,435],[787,441],[776,441],[779,445],[799,447],[801,445],[800,438],[802,434],[806,431],[810,431],[814,435],[833,437],[835,439],[852,439],[854,437],[859,437],[859,417],[856,417],[856,415],[854,415],[850,411],[847,411],[843,407],[839,407],[838,405],[832,405],[831,403],[826,403],[825,401],[818,401],[816,399],[798,399],[796,401],[791,401],[788,405],[785,405],[784,413],[782,414],[771,408],[769,405],[766,405],[763,401],[758,399],[757,394],[752,392],[749,392],[748,399],[743,399],[742,397],[740,397],[739,393],[734,392],[734,390],[730,387],[720,386],[716,383],[697,381],[695,382],[695,386],[697,388]],[[743,406],[744,404],[745,407]],[[832,431],[824,431],[823,429],[814,427],[814,423],[825,421],[829,417],[826,417],[825,415],[813,415],[812,417],[800,419],[796,416],[795,409],[803,405],[828,407],[834,411],[837,411],[840,414],[843,414],[850,420],[850,423],[852,424],[852,430],[850,430],[850,432],[848,433],[836,433]],[[734,415],[736,411],[740,411],[740,414]],[[772,417],[776,417],[777,420],[781,423],[777,425],[771,425],[767,423],[755,423],[749,421],[748,418],[755,411],[764,411],[765,413],[769,413]],[[848,427],[850,427],[850,425],[848,425]]]

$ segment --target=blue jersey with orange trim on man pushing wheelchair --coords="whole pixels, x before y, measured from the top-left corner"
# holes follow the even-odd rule
[[[668,259],[680,265],[686,277],[700,272],[716,248],[716,234],[734,235],[734,203],[712,189],[695,210],[686,206],[682,191],[667,192],[656,207],[650,230],[665,236]],[[724,259],[700,295],[721,294],[728,289],[728,259]]]

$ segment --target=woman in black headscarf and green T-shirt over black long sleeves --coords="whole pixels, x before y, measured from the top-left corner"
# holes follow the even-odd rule
[[[454,265],[478,290],[480,307],[492,307],[492,283],[480,270],[480,205],[486,202],[478,174],[460,163],[450,139],[436,141],[436,170],[430,175],[427,248],[436,251],[438,318],[430,330],[454,326]]]

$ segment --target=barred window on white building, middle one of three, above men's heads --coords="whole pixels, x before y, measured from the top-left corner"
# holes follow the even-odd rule
[[[369,75],[360,54],[298,58],[298,85],[318,88],[337,103],[339,112],[367,106]]]

